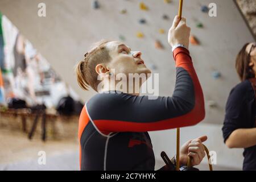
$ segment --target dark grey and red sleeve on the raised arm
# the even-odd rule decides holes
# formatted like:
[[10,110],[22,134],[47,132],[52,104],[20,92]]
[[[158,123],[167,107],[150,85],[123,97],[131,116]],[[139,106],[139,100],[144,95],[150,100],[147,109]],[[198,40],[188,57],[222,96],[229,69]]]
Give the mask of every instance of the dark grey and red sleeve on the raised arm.
[[176,84],[172,97],[149,100],[130,94],[97,94],[86,103],[86,112],[98,130],[156,131],[196,125],[205,117],[204,96],[189,51],[176,48]]

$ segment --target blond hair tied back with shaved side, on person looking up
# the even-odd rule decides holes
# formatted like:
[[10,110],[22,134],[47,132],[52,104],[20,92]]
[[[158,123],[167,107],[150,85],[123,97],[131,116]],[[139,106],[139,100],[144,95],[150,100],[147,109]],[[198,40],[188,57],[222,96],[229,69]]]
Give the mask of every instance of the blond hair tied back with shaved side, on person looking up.
[[98,73],[95,68],[97,64],[110,61],[109,51],[106,49],[106,43],[108,42],[110,40],[101,40],[95,43],[95,46],[89,52],[85,53],[84,60],[81,60],[76,65],[77,82],[82,89],[88,90],[90,86],[98,92],[97,86],[100,80],[97,80]]

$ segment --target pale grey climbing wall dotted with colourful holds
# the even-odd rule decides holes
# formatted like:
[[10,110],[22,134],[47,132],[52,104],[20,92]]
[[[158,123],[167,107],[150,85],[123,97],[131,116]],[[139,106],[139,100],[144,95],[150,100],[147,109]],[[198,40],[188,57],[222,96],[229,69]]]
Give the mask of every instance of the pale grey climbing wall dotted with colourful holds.
[[[1,0],[0,11],[82,100],[95,92],[84,92],[77,86],[73,67],[93,42],[104,38],[121,40],[134,51],[142,51],[146,65],[159,73],[160,96],[172,94],[175,66],[167,32],[179,1],[45,0],[46,17],[38,16],[40,2]],[[211,2],[217,5],[217,17],[210,17],[204,7]],[[189,50],[203,86],[204,122],[222,123],[229,92],[239,82],[234,69],[236,55],[243,44],[254,42],[253,36],[233,0],[185,0],[183,16],[195,36]]]

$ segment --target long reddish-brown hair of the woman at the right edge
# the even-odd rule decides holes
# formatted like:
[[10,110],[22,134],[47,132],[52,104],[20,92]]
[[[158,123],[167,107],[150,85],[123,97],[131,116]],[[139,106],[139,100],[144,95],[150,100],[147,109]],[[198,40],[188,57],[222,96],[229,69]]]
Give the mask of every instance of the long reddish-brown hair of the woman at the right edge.
[[246,47],[248,45],[249,43],[246,43],[245,46],[243,46],[241,51],[238,53],[236,60],[236,69],[241,81],[255,77],[253,68],[249,66],[250,55],[246,52]]

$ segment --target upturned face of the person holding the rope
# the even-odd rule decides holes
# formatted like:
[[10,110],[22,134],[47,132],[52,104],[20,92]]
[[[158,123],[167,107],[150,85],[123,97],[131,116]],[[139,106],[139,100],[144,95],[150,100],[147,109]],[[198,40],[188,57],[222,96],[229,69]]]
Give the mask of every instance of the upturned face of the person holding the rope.
[[124,73],[127,78],[129,73],[151,73],[141,59],[142,53],[139,51],[131,51],[129,47],[121,42],[109,42],[106,44],[109,50],[111,61],[108,63],[110,69],[114,69],[114,74]]

